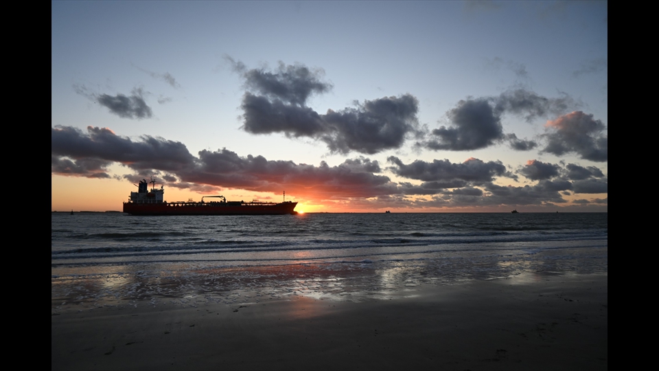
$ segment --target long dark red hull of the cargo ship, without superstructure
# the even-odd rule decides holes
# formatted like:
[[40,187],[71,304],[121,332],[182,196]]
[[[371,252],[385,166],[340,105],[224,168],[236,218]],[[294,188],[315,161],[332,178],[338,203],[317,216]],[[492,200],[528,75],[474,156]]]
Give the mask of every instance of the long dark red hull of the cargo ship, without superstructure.
[[297,214],[297,202],[263,205],[212,205],[211,203],[124,203],[124,212],[131,215],[284,215]]

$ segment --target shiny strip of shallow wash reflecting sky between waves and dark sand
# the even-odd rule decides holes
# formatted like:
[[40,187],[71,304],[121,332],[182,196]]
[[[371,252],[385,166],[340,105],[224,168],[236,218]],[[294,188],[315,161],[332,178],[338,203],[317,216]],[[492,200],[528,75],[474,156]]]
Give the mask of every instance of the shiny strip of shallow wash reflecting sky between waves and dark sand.
[[543,259],[534,256],[532,260],[524,256],[481,256],[200,269],[194,263],[176,262],[150,265],[148,269],[115,266],[105,274],[95,274],[93,267],[87,267],[86,271],[72,269],[68,276],[51,278],[51,297],[54,311],[64,309],[62,302],[79,303],[86,308],[134,305],[139,300],[176,306],[235,306],[291,297],[359,302],[414,295],[421,284],[527,277],[554,271],[606,271],[605,261],[593,259],[588,265],[579,260],[577,269],[571,266],[576,264],[575,259],[562,259],[557,251],[548,251],[546,255]]

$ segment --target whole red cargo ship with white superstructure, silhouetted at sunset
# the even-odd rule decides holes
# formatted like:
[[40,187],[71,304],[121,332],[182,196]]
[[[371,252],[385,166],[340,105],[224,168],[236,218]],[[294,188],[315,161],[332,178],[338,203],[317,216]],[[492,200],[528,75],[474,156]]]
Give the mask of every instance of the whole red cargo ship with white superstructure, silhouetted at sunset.
[[[151,190],[148,183],[152,183]],[[167,202],[164,199],[165,190],[155,188],[156,181],[147,182],[143,179],[137,186],[137,192],[130,192],[128,202],[124,202],[124,212],[131,215],[284,215],[297,214],[294,211],[297,202],[260,202],[260,201],[227,201],[224,196],[203,196],[200,202],[188,201]],[[216,198],[221,201],[204,201],[205,198]]]

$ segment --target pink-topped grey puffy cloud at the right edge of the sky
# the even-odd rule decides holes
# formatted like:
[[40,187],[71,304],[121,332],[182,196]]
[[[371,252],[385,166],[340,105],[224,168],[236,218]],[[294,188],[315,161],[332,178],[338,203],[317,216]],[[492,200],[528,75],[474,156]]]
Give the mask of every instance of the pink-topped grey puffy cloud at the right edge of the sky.
[[606,126],[600,120],[594,120],[592,115],[574,111],[548,121],[545,127],[547,145],[543,152],[557,156],[577,153],[582,159],[607,161]]

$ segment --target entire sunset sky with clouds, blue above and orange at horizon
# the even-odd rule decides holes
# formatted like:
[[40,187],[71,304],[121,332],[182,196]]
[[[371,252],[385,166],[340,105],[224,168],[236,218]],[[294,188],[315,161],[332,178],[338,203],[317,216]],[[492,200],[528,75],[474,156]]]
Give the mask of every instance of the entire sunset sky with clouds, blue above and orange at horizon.
[[51,210],[606,212],[606,1],[52,1]]

